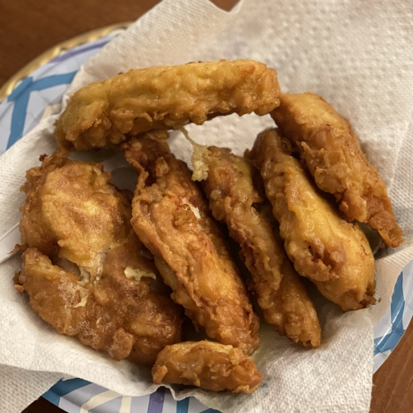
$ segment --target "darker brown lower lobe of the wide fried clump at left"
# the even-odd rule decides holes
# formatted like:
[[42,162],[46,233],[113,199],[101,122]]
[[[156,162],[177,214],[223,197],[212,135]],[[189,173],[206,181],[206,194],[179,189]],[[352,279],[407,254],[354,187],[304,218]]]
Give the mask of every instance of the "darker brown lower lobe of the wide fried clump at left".
[[148,275],[153,273],[140,271],[142,281],[125,277],[125,265],[134,261],[129,253],[136,248],[127,251],[121,245],[109,251],[103,275],[93,284],[79,282],[76,273],[28,248],[14,282],[28,293],[33,310],[59,333],[76,336],[112,359],[152,366],[160,350],[180,341],[181,321],[175,304],[150,290]]

